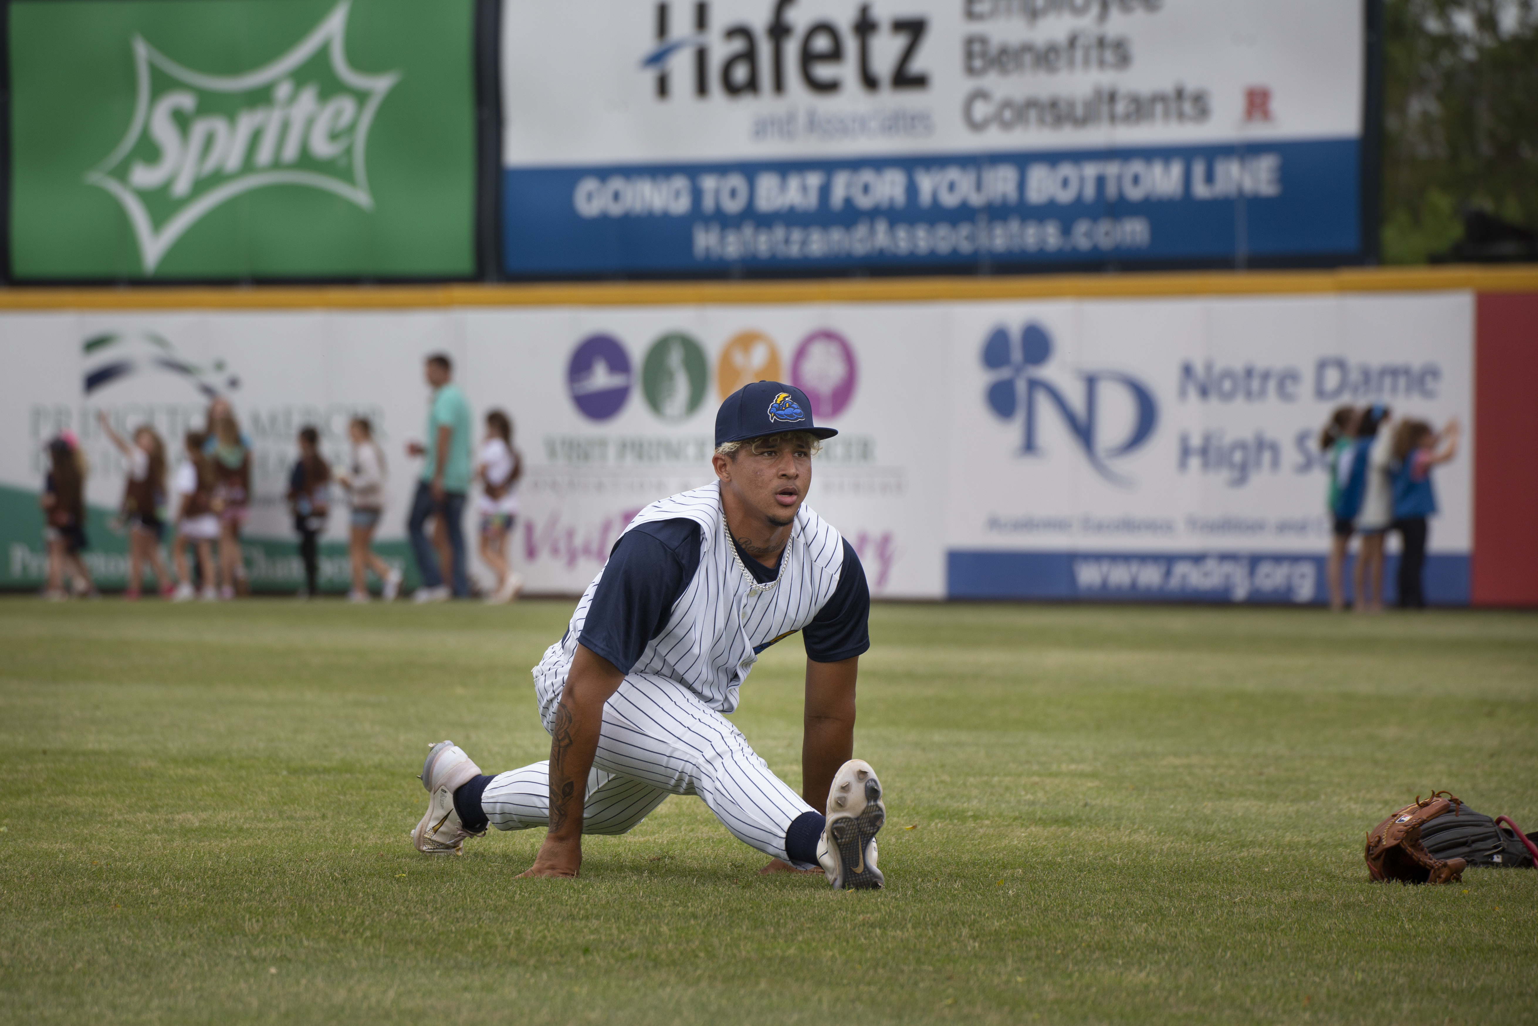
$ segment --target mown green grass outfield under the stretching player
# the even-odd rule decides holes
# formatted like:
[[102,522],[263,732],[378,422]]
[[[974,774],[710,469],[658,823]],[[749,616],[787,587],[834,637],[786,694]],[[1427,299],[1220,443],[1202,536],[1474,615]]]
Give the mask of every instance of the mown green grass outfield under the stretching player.
[[[1538,1020],[1538,872],[1361,860],[1432,788],[1538,829],[1538,615],[878,606],[886,891],[681,797],[577,881],[418,855],[428,741],[548,754],[569,609],[0,600],[0,1021]],[[734,717],[795,786],[801,666]]]

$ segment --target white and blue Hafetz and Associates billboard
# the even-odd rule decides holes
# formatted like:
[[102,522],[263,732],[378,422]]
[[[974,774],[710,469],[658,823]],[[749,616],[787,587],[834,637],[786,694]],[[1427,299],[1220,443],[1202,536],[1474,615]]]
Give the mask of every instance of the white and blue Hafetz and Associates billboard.
[[1349,258],[1361,0],[504,0],[514,275]]

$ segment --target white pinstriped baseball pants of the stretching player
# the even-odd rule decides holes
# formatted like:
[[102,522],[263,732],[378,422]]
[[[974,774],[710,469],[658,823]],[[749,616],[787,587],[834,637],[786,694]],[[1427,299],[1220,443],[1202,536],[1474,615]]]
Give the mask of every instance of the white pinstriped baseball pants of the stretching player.
[[[512,769],[486,786],[481,809],[492,826],[549,826],[549,766]],[[787,858],[791,823],[814,811],[694,692],[652,674],[626,677],[603,708],[583,834],[624,834],[671,794],[700,795],[738,840],[775,858]]]

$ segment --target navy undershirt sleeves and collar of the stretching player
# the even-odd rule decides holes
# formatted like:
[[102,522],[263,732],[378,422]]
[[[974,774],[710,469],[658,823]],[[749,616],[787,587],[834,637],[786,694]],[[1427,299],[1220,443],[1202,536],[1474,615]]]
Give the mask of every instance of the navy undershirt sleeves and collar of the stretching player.
[[[778,566],[764,566],[740,545],[737,555],[761,585],[780,574]],[[609,554],[578,641],[615,669],[631,672],[647,643],[667,626],[674,605],[698,568],[700,525],[694,520],[657,520],[628,531]],[[869,618],[864,566],[846,540],[838,588],[801,631],[806,657],[837,663],[864,654],[871,648]]]

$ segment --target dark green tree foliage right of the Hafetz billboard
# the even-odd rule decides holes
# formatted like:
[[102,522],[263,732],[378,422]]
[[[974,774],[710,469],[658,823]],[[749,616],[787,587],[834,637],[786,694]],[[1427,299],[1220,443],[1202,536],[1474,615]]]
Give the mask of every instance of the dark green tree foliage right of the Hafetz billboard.
[[1383,260],[1423,263],[1484,209],[1538,229],[1533,0],[1386,0]]

